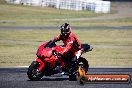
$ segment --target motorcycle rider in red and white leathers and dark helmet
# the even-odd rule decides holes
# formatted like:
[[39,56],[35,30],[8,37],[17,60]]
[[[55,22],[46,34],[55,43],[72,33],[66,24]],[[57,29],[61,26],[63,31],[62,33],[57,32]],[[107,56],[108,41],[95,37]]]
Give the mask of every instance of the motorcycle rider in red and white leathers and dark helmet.
[[[78,60],[78,58],[81,56],[81,43],[71,32],[71,26],[68,23],[64,23],[61,25],[60,28],[61,34],[54,37],[51,41],[57,42],[62,40],[65,46],[65,49],[61,52],[61,54],[65,56],[69,55],[69,51],[74,54],[74,58],[72,58],[72,61]],[[71,54],[71,53],[70,53]]]

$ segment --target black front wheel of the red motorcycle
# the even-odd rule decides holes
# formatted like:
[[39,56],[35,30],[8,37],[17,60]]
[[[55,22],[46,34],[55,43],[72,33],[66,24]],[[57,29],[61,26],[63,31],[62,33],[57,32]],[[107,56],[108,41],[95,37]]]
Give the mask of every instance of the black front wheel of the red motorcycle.
[[33,61],[32,64],[29,66],[27,75],[28,78],[32,81],[41,80],[43,77],[43,73],[38,70],[39,63],[37,61]]

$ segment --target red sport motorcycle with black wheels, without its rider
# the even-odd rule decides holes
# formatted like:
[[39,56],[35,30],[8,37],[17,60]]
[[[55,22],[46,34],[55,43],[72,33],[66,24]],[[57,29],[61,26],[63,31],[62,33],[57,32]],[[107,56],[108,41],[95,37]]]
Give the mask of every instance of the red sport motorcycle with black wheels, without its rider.
[[[36,53],[36,61],[33,61],[28,68],[27,75],[30,80],[41,80],[43,76],[51,76],[64,72],[69,76],[69,80],[76,80],[79,76],[79,68],[88,71],[88,61],[80,57],[76,62],[72,61],[75,57],[73,54],[63,57],[61,51],[64,45],[56,45],[51,41],[42,44]],[[92,48],[88,44],[82,44],[83,53],[91,51]],[[60,68],[61,67],[61,68]]]

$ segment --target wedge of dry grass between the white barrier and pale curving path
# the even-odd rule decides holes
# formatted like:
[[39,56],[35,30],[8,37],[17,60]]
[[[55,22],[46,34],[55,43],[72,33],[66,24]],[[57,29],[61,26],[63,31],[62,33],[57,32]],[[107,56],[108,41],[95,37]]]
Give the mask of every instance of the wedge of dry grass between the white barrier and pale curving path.
[[50,19],[89,18],[100,15],[103,14],[96,14],[92,11],[71,11],[48,7],[32,7],[9,4],[0,5],[0,20],[16,21],[14,25],[19,25],[18,23],[25,23],[23,25],[26,25],[26,23],[29,25],[42,25],[45,21]]

